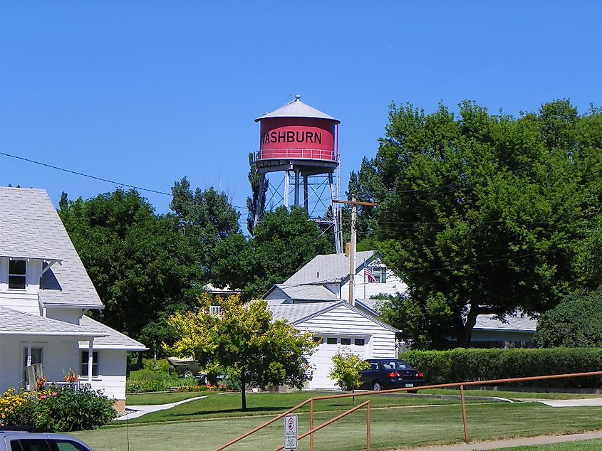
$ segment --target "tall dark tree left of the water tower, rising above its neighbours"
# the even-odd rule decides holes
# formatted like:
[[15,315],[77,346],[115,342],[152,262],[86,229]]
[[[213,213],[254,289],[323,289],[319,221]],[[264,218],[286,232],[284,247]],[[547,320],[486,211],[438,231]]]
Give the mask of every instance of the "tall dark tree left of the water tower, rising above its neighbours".
[[212,277],[212,267],[217,245],[231,235],[240,233],[240,214],[232,206],[226,193],[213,187],[192,191],[186,177],[175,182],[172,188],[170,208],[177,223],[197,255],[197,262],[204,277]]

